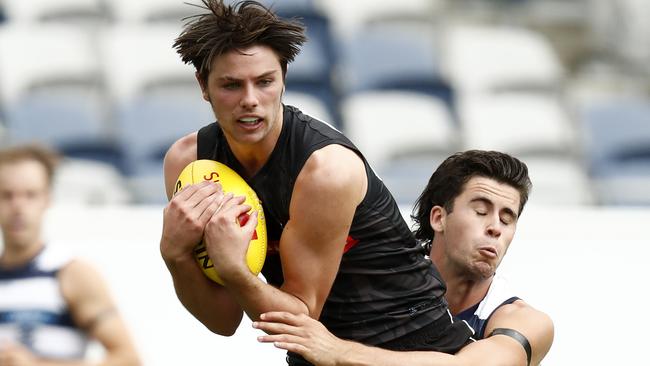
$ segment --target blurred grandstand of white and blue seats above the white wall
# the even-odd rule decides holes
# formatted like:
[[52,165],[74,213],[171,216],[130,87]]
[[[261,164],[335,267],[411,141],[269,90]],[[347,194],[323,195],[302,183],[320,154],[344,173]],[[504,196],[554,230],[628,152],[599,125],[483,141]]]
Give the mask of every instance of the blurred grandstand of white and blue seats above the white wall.
[[[526,161],[533,204],[650,204],[649,1],[263,3],[307,25],[285,102],[343,130],[400,204],[472,148]],[[171,48],[198,11],[0,0],[1,143],[64,152],[61,203],[165,202],[164,151],[213,119]]]

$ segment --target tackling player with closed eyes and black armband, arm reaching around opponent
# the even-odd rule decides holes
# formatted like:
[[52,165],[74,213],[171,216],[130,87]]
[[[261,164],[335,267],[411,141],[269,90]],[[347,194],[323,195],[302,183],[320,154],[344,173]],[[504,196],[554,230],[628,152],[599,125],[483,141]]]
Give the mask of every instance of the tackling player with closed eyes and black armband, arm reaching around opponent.
[[496,275],[531,187],[525,164],[507,154],[467,151],[433,173],[415,207],[416,237],[447,283],[451,312],[480,339],[456,355],[391,352],[334,337],[319,322],[274,312],[254,326],[317,365],[538,365],[553,343],[553,322]]

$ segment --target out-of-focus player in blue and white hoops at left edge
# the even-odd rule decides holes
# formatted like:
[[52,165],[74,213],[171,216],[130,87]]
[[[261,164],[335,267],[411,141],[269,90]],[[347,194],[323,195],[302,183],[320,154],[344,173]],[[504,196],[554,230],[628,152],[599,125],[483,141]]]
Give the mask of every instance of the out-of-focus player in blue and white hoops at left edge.
[[0,366],[86,365],[91,338],[99,364],[139,365],[99,274],[41,237],[56,160],[36,146],[0,151]]

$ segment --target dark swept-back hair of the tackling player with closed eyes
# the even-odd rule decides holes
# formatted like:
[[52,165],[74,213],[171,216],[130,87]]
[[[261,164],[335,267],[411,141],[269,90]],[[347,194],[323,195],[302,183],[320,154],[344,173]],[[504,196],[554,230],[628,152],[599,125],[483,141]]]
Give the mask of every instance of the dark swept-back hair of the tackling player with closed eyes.
[[433,172],[411,214],[411,219],[415,222],[415,237],[427,252],[431,250],[434,236],[429,223],[431,209],[441,206],[447,213],[451,213],[454,200],[463,191],[465,183],[477,176],[494,179],[515,188],[520,196],[519,214],[523,211],[532,188],[526,164],[498,151],[468,150],[455,153]]

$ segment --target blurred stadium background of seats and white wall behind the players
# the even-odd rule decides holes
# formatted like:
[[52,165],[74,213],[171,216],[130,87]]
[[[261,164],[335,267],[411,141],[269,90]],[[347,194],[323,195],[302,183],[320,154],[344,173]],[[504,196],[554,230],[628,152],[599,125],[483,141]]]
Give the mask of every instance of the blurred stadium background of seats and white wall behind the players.
[[[603,293],[634,292],[649,254],[650,1],[262,2],[307,25],[285,102],[345,132],[405,215],[455,151],[528,163],[532,207],[504,271],[556,320],[545,364],[612,364],[595,350],[629,351],[612,335],[641,337],[647,325],[589,337],[583,327],[612,312]],[[107,273],[147,365],[219,352],[250,358],[215,364],[281,364],[250,332],[232,347],[200,329],[157,251],[163,154],[214,119],[171,48],[199,11],[181,0],[0,0],[0,144],[37,141],[67,157],[48,233]]]

